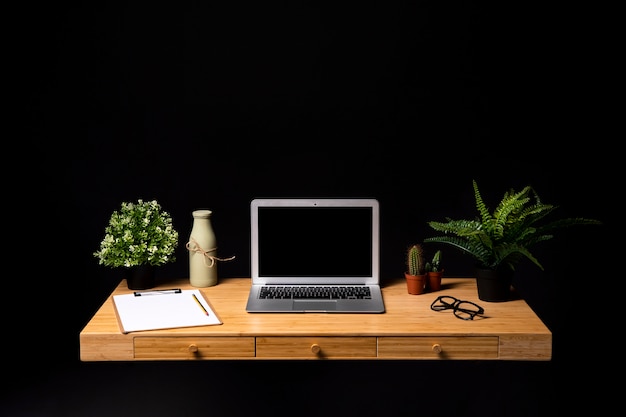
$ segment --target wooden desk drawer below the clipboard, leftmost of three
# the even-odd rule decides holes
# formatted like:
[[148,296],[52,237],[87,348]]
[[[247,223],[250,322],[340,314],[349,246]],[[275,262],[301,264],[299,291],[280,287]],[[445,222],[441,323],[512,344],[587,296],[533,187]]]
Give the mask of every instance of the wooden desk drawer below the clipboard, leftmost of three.
[[253,358],[254,337],[135,337],[136,359]]

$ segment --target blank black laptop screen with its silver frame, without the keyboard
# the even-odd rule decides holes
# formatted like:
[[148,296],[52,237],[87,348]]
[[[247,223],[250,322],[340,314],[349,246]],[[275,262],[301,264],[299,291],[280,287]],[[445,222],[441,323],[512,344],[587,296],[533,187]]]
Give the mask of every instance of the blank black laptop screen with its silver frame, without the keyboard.
[[372,199],[263,199],[252,204],[252,276],[277,283],[378,283]]

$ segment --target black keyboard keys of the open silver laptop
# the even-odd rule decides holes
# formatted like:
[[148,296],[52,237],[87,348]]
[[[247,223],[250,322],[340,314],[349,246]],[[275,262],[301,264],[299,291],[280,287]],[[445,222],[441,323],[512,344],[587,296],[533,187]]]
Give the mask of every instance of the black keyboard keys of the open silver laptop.
[[372,298],[367,286],[289,286],[268,285],[261,287],[259,298],[298,300],[340,300]]

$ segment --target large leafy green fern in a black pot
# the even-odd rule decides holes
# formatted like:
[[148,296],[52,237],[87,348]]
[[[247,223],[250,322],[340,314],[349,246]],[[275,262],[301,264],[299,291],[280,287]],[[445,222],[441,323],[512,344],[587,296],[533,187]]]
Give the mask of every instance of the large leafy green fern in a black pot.
[[475,180],[473,187],[478,217],[430,221],[428,225],[443,235],[426,238],[424,242],[450,245],[472,257],[478,297],[483,301],[510,299],[513,273],[522,259],[543,270],[530,251],[537,243],[552,239],[556,231],[566,227],[602,224],[582,217],[548,221],[547,216],[558,206],[544,203],[531,186],[505,192],[496,208],[489,211]]

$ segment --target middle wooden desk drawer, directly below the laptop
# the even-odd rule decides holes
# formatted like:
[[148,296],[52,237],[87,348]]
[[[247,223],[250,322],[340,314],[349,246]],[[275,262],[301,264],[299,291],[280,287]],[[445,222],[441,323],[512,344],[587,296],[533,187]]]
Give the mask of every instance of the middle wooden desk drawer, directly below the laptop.
[[257,337],[258,358],[375,358],[375,337]]

